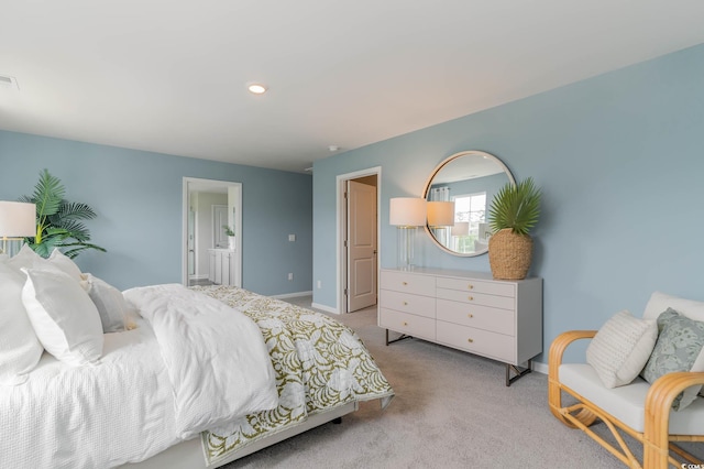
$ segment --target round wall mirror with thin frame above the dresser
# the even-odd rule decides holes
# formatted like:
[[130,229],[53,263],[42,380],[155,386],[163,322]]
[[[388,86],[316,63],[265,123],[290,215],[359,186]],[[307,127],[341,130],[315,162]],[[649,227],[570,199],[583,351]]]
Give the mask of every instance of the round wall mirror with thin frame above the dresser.
[[490,205],[506,183],[516,184],[508,167],[490,153],[470,150],[446,159],[430,173],[422,192],[430,239],[454,255],[487,252]]

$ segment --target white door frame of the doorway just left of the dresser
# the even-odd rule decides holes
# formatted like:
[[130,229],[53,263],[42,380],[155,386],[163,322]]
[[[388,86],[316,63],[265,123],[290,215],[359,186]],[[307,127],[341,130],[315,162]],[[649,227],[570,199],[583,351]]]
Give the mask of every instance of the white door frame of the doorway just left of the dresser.
[[346,234],[348,226],[348,212],[346,203],[344,200],[344,192],[346,189],[346,182],[350,179],[359,179],[364,176],[376,175],[376,296],[378,298],[378,272],[382,254],[382,237],[381,237],[381,215],[382,215],[382,166],[374,166],[366,170],[360,170],[352,173],[339,174],[336,177],[337,200],[336,200],[336,225],[337,225],[337,247],[336,259],[338,263],[337,268],[337,303],[339,314],[348,313],[348,302],[344,295],[344,288],[346,287],[346,270],[348,270],[348,255],[344,247],[344,238]]

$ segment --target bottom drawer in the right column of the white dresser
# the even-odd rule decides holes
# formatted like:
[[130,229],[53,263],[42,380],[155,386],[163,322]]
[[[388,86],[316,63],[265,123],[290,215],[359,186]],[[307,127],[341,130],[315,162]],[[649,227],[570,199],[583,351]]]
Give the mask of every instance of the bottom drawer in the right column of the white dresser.
[[439,320],[437,323],[437,341],[472,353],[493,358],[506,363],[515,362],[515,341],[513,336],[490,332],[473,327]]

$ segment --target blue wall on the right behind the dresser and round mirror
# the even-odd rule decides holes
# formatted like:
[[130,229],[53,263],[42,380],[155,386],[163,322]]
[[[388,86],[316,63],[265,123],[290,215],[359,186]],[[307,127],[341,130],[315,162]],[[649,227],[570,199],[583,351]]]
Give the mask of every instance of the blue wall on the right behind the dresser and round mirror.
[[[704,46],[700,45],[315,163],[314,281],[334,279],[336,176],[381,165],[381,265],[395,266],[388,199],[419,196],[463,150],[542,188],[532,275],[544,279],[544,350],[561,331],[640,316],[651,292],[704,301]],[[488,272],[420,231],[417,264]],[[333,282],[315,290],[337,308]],[[547,356],[539,357],[547,361]]]

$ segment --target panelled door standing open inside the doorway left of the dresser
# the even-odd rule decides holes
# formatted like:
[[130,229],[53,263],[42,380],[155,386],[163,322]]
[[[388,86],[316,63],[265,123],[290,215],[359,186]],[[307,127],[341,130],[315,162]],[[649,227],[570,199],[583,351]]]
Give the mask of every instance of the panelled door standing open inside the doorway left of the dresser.
[[376,187],[348,182],[348,313],[376,304]]

